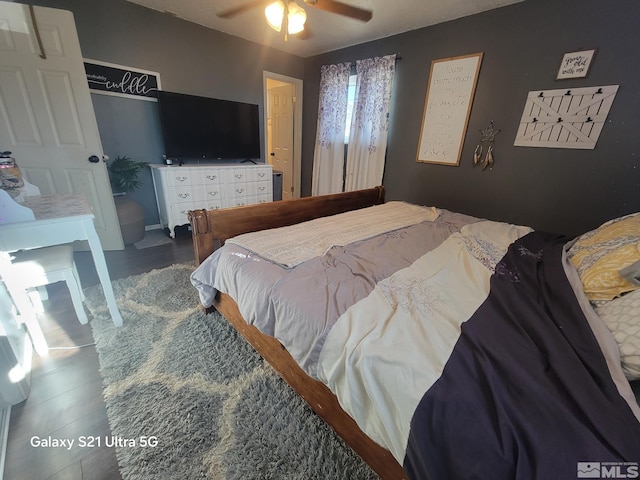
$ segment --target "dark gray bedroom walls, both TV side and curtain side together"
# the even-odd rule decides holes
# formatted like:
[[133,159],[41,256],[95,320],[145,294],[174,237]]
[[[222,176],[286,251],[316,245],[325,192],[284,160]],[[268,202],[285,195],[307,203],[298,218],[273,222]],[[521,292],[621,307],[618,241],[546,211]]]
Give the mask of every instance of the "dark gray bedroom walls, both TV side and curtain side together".
[[[165,90],[263,106],[262,71],[304,79],[302,195],[311,193],[320,66],[398,53],[384,185],[387,198],[575,235],[640,210],[637,0],[525,0],[433,27],[302,59],[125,0],[36,0],[74,13],[83,55],[160,73]],[[321,32],[316,34],[320,35]],[[585,79],[556,81],[565,52],[598,48]],[[484,58],[460,166],[416,163],[431,61]],[[530,90],[620,85],[594,150],[514,147]],[[105,153],[159,163],[155,103],[92,95]],[[472,167],[494,121],[495,167]],[[264,126],[262,126],[264,136]],[[263,153],[264,155],[264,153]],[[133,194],[158,222],[150,176]]]

